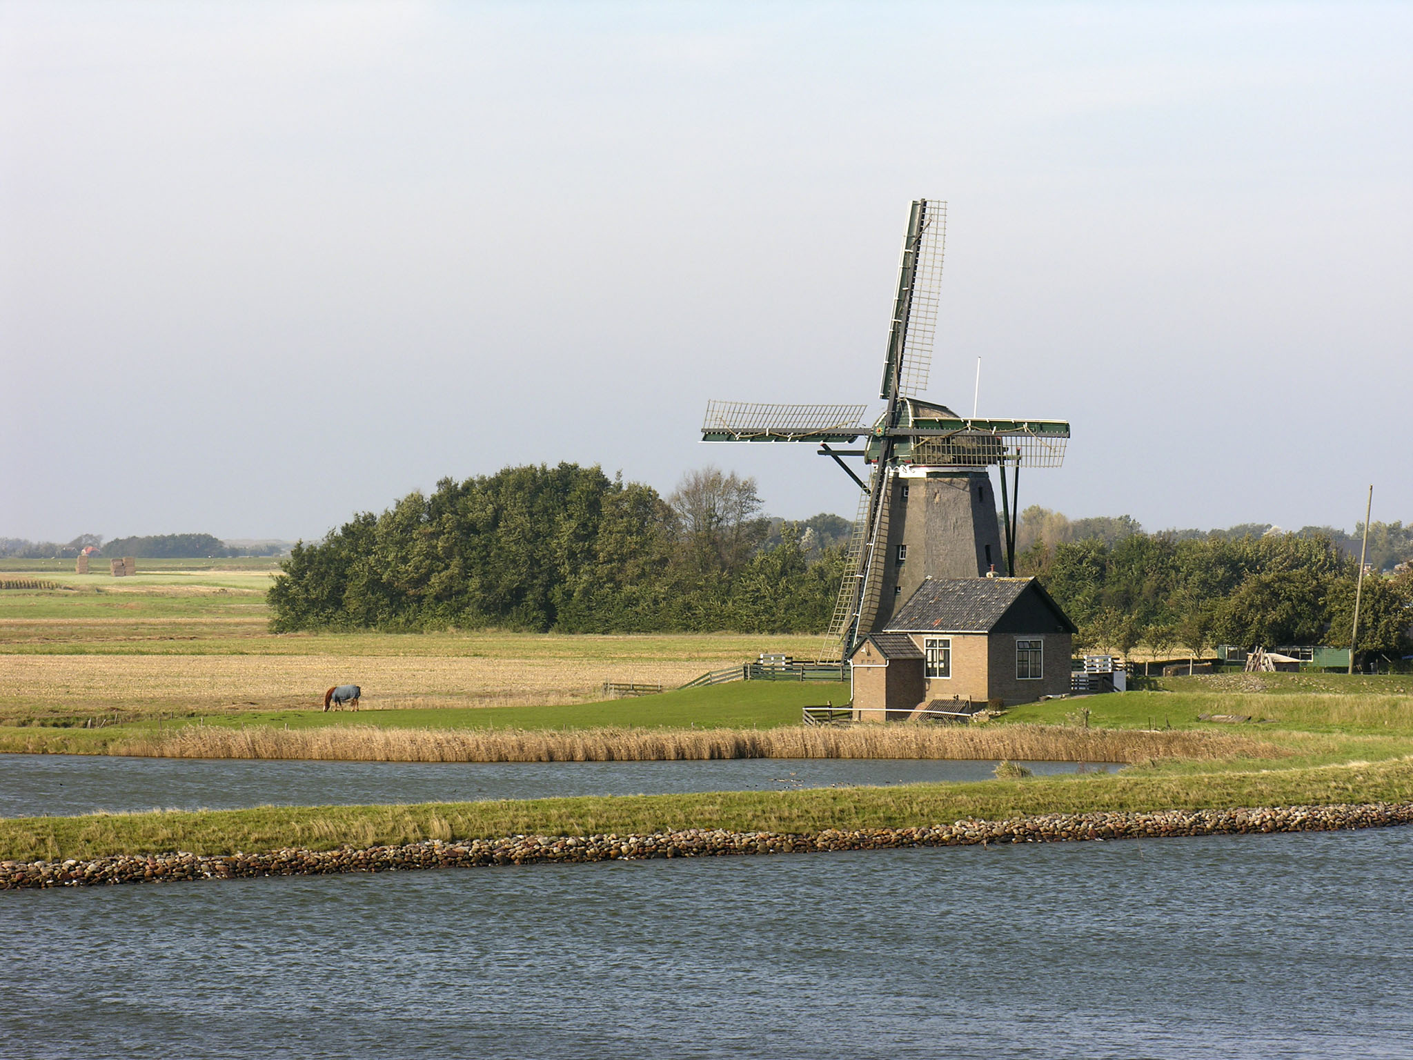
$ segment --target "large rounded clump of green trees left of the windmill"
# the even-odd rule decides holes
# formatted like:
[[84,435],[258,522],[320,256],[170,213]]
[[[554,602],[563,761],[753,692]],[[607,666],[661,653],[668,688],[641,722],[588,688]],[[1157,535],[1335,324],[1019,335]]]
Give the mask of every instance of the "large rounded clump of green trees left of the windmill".
[[270,591],[271,626],[824,630],[844,520],[760,509],[755,479],[716,468],[666,499],[575,464],[442,479],[297,544]]

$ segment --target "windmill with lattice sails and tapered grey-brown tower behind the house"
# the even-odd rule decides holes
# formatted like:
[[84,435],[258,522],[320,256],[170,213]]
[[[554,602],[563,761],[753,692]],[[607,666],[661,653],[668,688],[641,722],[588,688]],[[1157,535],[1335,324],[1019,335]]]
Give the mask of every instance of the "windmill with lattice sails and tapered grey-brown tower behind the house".
[[[976,578],[1002,563],[1016,570],[1020,468],[1057,468],[1070,424],[1063,420],[965,418],[923,401],[933,359],[947,242],[947,204],[918,199],[907,219],[897,295],[879,397],[865,404],[709,401],[702,441],[793,441],[818,445],[862,490],[845,554],[844,582],[821,660],[848,657],[859,637],[882,629],[926,578]],[[862,448],[834,448],[855,445]],[[862,457],[868,482],[844,462]],[[991,468],[1000,472],[1002,519]],[[1007,489],[1006,472],[1012,482]]]

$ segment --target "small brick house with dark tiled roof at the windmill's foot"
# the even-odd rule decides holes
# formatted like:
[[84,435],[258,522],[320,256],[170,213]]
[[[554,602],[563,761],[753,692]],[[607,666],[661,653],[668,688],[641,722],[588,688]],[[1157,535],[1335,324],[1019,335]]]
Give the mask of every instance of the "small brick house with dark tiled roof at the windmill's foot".
[[[1070,691],[1074,623],[1034,578],[928,579],[849,656],[859,721]],[[968,708],[969,704],[969,708]]]

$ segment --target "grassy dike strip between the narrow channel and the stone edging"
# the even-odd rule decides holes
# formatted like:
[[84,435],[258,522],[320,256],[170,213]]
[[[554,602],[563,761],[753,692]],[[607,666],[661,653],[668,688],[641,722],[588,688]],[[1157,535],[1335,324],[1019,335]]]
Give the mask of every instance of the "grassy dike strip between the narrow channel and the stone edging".
[[167,851],[259,854],[290,847],[326,851],[422,840],[651,834],[690,828],[804,834],[1053,813],[1407,801],[1413,801],[1413,758],[1177,776],[1096,775],[804,791],[8,818],[0,820],[0,861],[90,859]]

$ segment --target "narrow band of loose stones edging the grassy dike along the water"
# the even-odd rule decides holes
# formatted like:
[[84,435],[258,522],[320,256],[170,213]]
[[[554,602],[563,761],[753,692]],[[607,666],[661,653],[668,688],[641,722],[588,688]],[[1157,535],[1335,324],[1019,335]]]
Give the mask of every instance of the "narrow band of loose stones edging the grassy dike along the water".
[[650,835],[507,835],[499,840],[425,840],[397,847],[264,854],[119,854],[92,861],[4,861],[0,890],[147,883],[246,876],[317,876],[335,872],[543,865],[644,858],[714,858],[746,854],[968,847],[988,842],[1159,840],[1173,835],[1311,832],[1413,824],[1413,803],[1280,806],[1253,810],[1043,814],[1006,821],[955,821],[917,828],[753,832],[691,828]]

